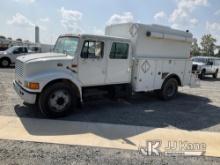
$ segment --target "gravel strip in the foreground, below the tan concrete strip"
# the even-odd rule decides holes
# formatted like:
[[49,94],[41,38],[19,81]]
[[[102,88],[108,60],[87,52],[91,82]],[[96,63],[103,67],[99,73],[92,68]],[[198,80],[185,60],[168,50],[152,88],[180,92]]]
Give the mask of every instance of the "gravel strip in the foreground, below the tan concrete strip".
[[145,157],[139,152],[128,150],[1,140],[0,164],[219,165],[220,159],[209,157]]

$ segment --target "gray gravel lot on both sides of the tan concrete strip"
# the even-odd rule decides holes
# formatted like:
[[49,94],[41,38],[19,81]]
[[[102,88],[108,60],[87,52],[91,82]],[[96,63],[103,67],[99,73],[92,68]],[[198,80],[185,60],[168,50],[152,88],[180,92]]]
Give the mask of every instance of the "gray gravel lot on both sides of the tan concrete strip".
[[[0,116],[44,118],[36,108],[23,105],[12,88],[14,69],[0,69]],[[154,94],[129,100],[87,102],[77,113],[59,120],[173,128],[220,133],[220,79],[206,78],[201,88],[180,88],[175,100],[164,102]],[[216,144],[220,148],[220,144]],[[36,161],[35,161],[36,160]],[[2,162],[2,163],[1,163]],[[143,157],[133,151],[0,141],[0,164],[220,164],[207,157]],[[61,163],[62,162],[62,163]]]

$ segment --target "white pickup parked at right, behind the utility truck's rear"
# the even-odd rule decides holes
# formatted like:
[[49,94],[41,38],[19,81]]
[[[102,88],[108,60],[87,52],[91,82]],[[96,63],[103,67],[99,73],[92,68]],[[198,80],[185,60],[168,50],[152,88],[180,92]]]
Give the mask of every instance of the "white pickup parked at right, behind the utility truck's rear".
[[220,58],[198,56],[193,57],[193,70],[198,72],[202,79],[206,75],[212,75],[213,78],[218,77],[220,71]]

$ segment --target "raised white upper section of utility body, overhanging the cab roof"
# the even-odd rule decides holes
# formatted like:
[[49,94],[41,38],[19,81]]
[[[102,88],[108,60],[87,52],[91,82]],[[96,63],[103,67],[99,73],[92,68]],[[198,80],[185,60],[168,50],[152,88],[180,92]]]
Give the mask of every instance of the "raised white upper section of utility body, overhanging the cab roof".
[[116,24],[105,34],[128,38],[134,57],[189,59],[192,34],[160,25]]

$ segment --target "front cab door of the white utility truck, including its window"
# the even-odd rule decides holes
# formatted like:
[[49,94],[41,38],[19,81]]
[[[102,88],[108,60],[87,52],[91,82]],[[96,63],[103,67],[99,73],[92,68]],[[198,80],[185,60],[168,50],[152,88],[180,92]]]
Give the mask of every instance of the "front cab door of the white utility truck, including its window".
[[83,86],[103,85],[105,81],[105,43],[101,40],[83,41],[79,57],[79,79]]

